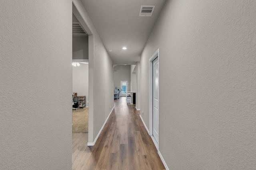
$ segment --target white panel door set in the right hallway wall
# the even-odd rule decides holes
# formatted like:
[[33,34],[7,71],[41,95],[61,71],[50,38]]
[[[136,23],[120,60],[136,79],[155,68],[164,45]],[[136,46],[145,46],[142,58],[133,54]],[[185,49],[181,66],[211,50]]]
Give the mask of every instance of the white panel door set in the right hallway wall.
[[159,138],[159,63],[158,63],[158,57],[153,61],[153,137],[156,139],[156,142],[158,143]]

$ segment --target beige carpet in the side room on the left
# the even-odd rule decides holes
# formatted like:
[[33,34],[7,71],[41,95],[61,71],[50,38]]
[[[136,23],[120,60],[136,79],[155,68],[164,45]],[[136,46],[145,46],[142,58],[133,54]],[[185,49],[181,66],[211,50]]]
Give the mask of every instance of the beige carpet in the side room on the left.
[[72,133],[88,133],[88,107],[73,110]]

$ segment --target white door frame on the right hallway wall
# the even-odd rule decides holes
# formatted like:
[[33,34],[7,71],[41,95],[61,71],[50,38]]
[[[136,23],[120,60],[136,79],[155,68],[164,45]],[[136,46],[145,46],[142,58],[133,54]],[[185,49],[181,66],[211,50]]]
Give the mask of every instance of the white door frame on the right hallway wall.
[[[149,135],[152,138],[154,145],[156,146],[157,151],[159,151],[159,133],[158,132],[158,143],[153,137],[153,61],[158,57],[158,65],[160,64],[159,62],[159,49],[156,50],[156,52],[152,55],[152,57],[149,59],[149,92],[148,92],[148,97],[149,97]],[[160,65],[159,65],[160,66]],[[159,67],[160,68],[160,67]],[[158,70],[159,71],[159,70]],[[159,72],[158,72],[158,82],[159,82]],[[158,92],[159,92],[159,84],[158,84]],[[158,104],[159,102],[159,93],[158,93]],[[159,110],[158,110],[159,113]],[[159,123],[160,124],[160,123]],[[159,128],[158,128],[159,129]]]

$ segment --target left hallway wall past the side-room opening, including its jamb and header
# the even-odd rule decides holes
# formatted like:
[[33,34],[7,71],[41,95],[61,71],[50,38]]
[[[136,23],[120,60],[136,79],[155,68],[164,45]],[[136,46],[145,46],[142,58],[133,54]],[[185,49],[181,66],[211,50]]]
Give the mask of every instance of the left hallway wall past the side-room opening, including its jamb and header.
[[80,0],[73,0],[73,13],[89,34],[89,125],[88,143],[94,143],[114,107],[114,69],[92,21]]

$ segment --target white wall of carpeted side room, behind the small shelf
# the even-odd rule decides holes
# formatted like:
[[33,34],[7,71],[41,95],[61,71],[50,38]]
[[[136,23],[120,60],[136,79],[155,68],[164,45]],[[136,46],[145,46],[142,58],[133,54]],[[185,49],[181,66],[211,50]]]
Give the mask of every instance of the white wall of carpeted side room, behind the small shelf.
[[72,92],[77,93],[78,96],[86,96],[89,100],[89,70],[88,64],[80,63],[80,66],[72,67]]

